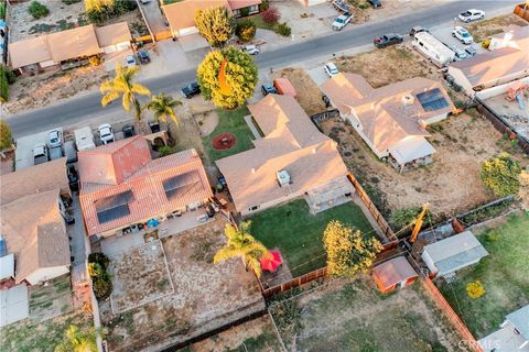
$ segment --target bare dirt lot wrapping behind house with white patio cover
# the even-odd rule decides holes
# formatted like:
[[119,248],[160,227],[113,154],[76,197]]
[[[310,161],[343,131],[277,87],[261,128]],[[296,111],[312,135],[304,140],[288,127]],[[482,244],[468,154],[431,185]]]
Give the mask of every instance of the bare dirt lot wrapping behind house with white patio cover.
[[479,180],[483,161],[508,151],[528,164],[519,150],[512,150],[510,142],[477,113],[451,117],[432,128],[429,141],[436,150],[433,163],[404,174],[379,161],[342,120],[323,121],[321,127],[338,142],[348,168],[386,216],[425,201],[438,218],[463,212],[494,199]]

